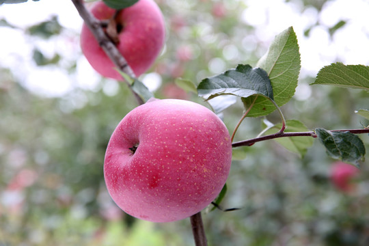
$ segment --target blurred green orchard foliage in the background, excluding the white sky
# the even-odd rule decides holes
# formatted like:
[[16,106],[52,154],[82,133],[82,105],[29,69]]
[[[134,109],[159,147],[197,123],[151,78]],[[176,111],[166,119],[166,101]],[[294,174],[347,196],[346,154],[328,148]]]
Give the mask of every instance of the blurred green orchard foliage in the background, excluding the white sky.
[[[239,63],[254,66],[267,51],[269,44],[255,38],[257,30],[239,21],[247,8],[241,1],[156,2],[168,30],[165,51],[150,71],[161,74],[159,98],[205,104],[179,90],[176,78],[198,83]],[[324,1],[304,3],[320,10]],[[38,33],[33,38],[42,40],[64,35],[57,18],[45,21],[29,27],[27,35]],[[31,49],[36,64],[68,68],[73,78],[74,66],[38,48]],[[305,77],[299,83],[312,81]],[[138,221],[107,193],[102,174],[107,142],[137,106],[126,85],[101,79],[94,90],[76,86],[61,98],[38,96],[22,85],[12,70],[0,68],[0,245],[193,245],[189,220]],[[354,113],[368,107],[367,92],[323,85],[310,90],[307,100],[292,98],[282,107],[287,120],[310,129],[369,124]],[[242,114],[241,101],[223,112],[230,132]],[[263,119],[245,120],[234,140],[255,137]],[[279,115],[267,120],[277,124]],[[368,135],[359,137],[368,148]],[[369,245],[368,161],[355,190],[342,193],[329,180],[333,160],[317,141],[303,159],[275,141],[236,152],[221,207],[241,210],[204,210],[209,245]]]

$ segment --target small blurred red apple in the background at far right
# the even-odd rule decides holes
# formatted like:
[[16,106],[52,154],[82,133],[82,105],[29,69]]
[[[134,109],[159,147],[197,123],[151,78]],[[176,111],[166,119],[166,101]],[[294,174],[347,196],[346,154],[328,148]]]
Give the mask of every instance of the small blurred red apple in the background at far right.
[[331,167],[331,180],[338,190],[349,193],[355,189],[353,178],[359,174],[359,169],[351,164],[336,161]]

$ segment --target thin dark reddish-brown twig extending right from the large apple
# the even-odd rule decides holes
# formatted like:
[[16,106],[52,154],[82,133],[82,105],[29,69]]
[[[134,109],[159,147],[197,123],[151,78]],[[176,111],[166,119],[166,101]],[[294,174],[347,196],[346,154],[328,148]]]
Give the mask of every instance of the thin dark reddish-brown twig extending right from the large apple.
[[[362,133],[369,133],[369,128],[364,129],[348,129],[348,130],[331,130],[331,132],[349,132],[353,134],[362,134]],[[240,147],[240,146],[252,146],[254,143],[258,141],[265,141],[269,139],[275,139],[279,137],[317,137],[314,131],[310,132],[297,132],[297,133],[284,133],[278,132],[271,135],[265,135],[262,137],[256,137],[254,139],[248,139],[244,141],[238,141],[236,143],[232,143],[232,147]]]

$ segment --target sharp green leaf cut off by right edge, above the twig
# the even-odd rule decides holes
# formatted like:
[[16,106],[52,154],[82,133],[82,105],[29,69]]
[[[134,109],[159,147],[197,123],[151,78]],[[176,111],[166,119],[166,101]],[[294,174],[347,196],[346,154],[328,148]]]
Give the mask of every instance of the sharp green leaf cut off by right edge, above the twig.
[[340,62],[320,69],[310,85],[336,85],[369,90],[369,66],[344,65]]

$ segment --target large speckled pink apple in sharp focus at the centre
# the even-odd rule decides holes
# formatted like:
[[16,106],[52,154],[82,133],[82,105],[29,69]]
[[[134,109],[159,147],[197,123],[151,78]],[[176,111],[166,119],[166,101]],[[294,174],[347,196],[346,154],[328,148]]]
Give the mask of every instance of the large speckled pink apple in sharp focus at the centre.
[[231,159],[230,135],[213,111],[187,100],[154,100],[115,128],[104,176],[124,212],[147,221],[177,221],[217,197]]

